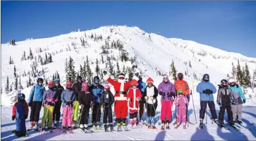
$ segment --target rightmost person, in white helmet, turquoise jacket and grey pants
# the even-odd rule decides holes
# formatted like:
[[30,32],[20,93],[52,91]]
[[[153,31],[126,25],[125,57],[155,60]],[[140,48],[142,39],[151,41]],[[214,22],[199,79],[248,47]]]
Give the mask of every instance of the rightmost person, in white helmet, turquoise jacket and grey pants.
[[234,78],[230,78],[228,84],[230,85],[229,88],[233,91],[234,100],[237,103],[237,105],[231,105],[234,123],[242,124],[242,104],[246,103],[246,97]]

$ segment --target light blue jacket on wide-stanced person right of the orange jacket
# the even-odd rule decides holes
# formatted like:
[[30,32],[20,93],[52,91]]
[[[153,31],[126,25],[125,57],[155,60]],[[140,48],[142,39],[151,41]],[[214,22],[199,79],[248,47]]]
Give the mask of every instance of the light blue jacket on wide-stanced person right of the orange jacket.
[[[206,89],[210,89],[213,91],[212,94],[205,94],[202,93],[202,91],[206,90]],[[196,91],[198,93],[200,93],[200,101],[214,101],[214,95],[216,93],[216,88],[214,85],[212,85],[212,83],[210,83],[210,80],[208,82],[205,82],[204,80],[202,80],[202,82],[200,82],[198,84],[198,86],[196,86]]]

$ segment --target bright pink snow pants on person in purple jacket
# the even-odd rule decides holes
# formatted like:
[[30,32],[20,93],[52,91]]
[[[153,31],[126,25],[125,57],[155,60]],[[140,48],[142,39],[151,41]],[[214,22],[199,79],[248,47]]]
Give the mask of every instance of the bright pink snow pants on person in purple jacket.
[[166,119],[170,121],[172,116],[172,102],[173,101],[162,101],[161,121],[166,121]]

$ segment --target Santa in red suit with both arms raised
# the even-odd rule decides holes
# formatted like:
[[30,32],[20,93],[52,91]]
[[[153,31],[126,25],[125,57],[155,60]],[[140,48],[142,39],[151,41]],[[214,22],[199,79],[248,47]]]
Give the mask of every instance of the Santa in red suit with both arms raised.
[[[116,122],[118,123],[118,128],[126,126],[126,116],[127,116],[127,91],[130,88],[131,82],[125,82],[125,75],[119,74],[118,81],[110,78],[110,75],[107,72],[103,71],[103,79],[108,81],[111,85],[114,86],[114,114],[116,115]],[[135,80],[138,80],[138,77],[134,76]]]

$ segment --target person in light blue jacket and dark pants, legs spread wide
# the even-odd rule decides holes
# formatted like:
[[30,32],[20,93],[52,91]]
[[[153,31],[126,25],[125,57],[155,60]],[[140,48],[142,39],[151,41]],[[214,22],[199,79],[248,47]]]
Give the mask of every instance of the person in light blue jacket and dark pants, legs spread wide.
[[209,74],[204,74],[202,77],[202,81],[196,86],[196,91],[200,93],[200,124],[199,128],[202,128],[202,121],[204,120],[204,115],[206,113],[207,104],[210,108],[210,114],[212,115],[212,119],[215,123],[218,124],[217,113],[215,110],[214,104],[214,95],[216,93],[215,86],[210,83]]

